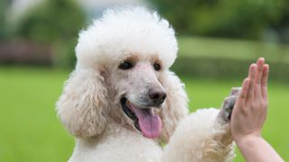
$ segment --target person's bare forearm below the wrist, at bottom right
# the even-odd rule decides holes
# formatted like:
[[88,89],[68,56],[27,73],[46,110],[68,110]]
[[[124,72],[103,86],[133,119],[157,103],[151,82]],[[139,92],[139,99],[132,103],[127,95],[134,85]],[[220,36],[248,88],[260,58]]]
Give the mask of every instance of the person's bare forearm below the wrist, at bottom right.
[[265,139],[257,136],[248,136],[236,141],[238,148],[247,162],[283,162],[275,149]]

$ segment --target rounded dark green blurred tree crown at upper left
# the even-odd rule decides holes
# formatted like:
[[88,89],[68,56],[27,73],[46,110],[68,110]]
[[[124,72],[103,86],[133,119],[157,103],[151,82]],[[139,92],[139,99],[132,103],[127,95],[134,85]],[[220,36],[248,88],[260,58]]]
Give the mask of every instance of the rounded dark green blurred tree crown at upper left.
[[75,38],[85,24],[85,14],[73,0],[46,0],[29,10],[17,25],[16,35],[53,42]]

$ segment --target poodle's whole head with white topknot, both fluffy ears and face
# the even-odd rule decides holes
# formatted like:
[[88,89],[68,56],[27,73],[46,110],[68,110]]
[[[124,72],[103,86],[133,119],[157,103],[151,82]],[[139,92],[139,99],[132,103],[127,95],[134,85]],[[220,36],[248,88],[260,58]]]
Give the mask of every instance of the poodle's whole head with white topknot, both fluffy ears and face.
[[187,113],[187,95],[170,72],[177,41],[169,23],[142,7],[105,12],[79,34],[77,66],[57,103],[77,137],[105,130],[111,117],[147,138],[167,141]]

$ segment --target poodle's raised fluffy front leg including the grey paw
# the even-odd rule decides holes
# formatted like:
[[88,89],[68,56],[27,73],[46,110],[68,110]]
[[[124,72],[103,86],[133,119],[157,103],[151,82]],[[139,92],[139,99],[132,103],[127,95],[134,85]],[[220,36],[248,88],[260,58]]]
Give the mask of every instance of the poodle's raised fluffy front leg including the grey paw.
[[238,90],[233,89],[221,109],[202,109],[183,119],[164,148],[163,161],[232,161],[234,146],[229,118]]

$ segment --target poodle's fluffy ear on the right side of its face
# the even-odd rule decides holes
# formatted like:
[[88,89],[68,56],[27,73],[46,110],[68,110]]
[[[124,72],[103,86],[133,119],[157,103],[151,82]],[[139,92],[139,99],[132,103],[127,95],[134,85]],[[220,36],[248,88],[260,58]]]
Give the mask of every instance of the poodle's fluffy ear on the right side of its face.
[[188,96],[180,78],[171,71],[165,72],[164,76],[161,77],[161,82],[167,98],[160,115],[163,121],[160,139],[167,143],[178,122],[188,115]]

